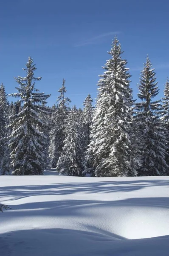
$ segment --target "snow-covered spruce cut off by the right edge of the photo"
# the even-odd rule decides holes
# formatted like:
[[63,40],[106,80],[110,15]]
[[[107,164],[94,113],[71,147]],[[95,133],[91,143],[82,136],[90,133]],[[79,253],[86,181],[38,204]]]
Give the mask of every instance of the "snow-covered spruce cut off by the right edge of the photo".
[[[166,129],[167,155],[166,163],[169,165],[169,79],[167,79],[164,87],[164,97],[162,98],[161,124]],[[169,169],[168,173],[169,175]]]

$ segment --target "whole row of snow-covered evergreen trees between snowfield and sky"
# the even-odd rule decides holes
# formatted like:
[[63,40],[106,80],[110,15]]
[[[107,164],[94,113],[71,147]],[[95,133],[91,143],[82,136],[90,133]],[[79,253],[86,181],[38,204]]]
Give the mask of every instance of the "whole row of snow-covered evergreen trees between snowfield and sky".
[[[42,175],[47,166],[62,175],[93,177],[169,175],[169,80],[157,100],[156,73],[146,58],[132,96],[129,68],[115,37],[98,82],[96,105],[90,94],[83,108],[70,108],[65,79],[56,105],[35,87],[31,57],[25,77],[17,76],[17,100],[8,102],[0,86],[0,174]],[[154,99],[155,98],[155,99]]]

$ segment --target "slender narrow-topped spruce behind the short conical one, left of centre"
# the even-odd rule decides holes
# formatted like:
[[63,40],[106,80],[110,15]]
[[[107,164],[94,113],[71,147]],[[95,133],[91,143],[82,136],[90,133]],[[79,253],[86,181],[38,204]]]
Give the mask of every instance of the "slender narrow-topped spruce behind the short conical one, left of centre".
[[53,122],[54,127],[51,131],[51,144],[53,144],[54,153],[52,159],[52,167],[56,168],[59,157],[62,154],[63,141],[65,140],[65,122],[70,111],[69,103],[71,100],[65,97],[66,87],[65,79],[63,79],[62,87],[58,90],[60,95],[57,97],[58,104],[54,108]]

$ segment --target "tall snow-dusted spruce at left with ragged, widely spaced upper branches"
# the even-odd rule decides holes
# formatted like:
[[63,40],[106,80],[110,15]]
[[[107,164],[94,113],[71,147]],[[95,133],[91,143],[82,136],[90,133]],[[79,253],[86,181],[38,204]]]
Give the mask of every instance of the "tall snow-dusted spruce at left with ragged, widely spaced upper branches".
[[39,93],[39,90],[35,88],[35,81],[39,81],[41,77],[34,77],[34,71],[37,68],[31,57],[28,58],[25,66],[23,70],[26,76],[15,78],[20,85],[16,87],[18,92],[10,95],[19,97],[23,107],[18,114],[10,116],[13,129],[10,136],[12,174],[42,175],[46,136],[40,131],[40,127],[45,125],[46,120],[40,119],[40,114],[48,114],[45,104],[50,95]]

